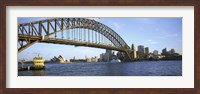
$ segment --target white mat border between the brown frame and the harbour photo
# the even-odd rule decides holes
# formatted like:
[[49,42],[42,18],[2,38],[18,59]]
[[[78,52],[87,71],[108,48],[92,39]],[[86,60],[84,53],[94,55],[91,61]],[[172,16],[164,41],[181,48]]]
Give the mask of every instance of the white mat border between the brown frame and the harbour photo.
[[[194,88],[193,6],[7,6],[6,17],[7,88]],[[183,76],[17,77],[17,17],[183,17]]]

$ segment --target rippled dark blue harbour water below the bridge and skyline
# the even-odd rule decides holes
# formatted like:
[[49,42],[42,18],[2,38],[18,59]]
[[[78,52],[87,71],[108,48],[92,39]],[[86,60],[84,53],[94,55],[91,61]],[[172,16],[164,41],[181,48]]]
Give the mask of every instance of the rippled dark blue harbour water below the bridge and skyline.
[[45,64],[46,70],[18,71],[18,76],[182,76],[182,61]]

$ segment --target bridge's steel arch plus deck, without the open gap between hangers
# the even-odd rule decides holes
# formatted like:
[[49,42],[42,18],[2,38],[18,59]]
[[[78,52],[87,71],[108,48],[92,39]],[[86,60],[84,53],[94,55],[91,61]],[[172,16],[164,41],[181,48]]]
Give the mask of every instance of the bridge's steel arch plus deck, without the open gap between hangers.
[[127,53],[130,54],[130,47],[113,29],[100,22],[86,18],[53,18],[18,24],[18,43],[20,45],[18,52],[21,52],[25,48],[37,42],[73,44],[74,41],[61,42],[63,40],[50,38],[49,36],[64,30],[76,28],[93,30],[106,37],[114,45],[108,46],[94,43],[84,44],[82,42],[75,43],[74,45],[105,48],[124,52],[128,51]]

